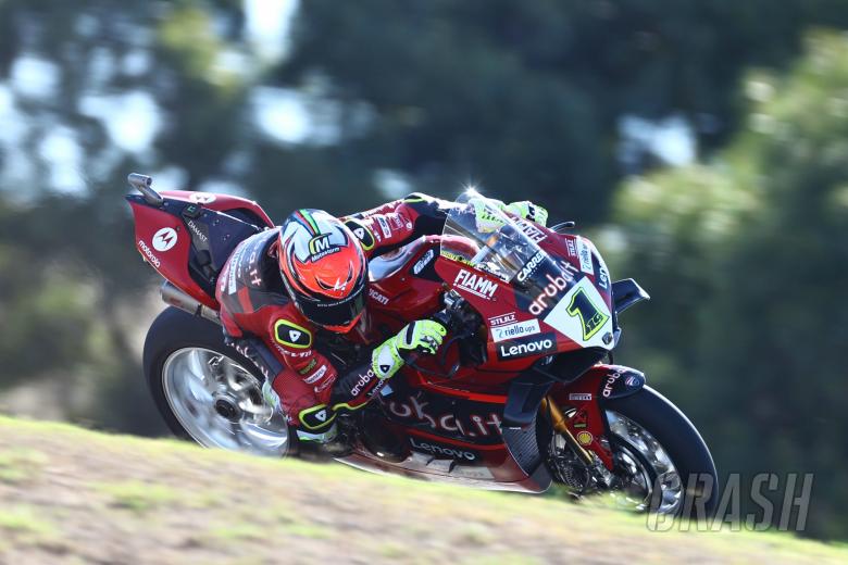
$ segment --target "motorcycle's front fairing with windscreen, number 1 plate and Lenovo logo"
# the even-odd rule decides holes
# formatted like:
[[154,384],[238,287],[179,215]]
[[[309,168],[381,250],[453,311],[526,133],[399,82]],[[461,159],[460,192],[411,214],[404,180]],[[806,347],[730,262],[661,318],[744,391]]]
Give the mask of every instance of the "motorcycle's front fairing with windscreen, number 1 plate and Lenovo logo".
[[483,315],[489,362],[612,349],[609,272],[595,247],[472,199],[496,221],[481,226],[473,200],[452,209],[437,268]]

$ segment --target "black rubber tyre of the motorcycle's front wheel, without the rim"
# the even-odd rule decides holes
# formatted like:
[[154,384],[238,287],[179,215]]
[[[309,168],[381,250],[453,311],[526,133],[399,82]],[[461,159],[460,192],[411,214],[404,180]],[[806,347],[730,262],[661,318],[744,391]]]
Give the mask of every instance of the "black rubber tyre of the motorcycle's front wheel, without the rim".
[[[648,461],[654,457],[646,457],[634,447],[639,441],[633,441],[628,436],[638,434],[638,428],[641,428],[668,454],[682,481],[681,503],[673,514],[693,518],[711,517],[714,514],[719,502],[715,464],[703,438],[683,412],[650,387],[629,397],[606,401],[604,410],[611,425],[613,451],[624,451],[628,457],[646,466],[650,480],[656,481],[658,478],[656,472],[651,473],[656,463]],[[657,506],[662,501],[659,492],[654,494],[649,510],[656,512],[660,510]]]

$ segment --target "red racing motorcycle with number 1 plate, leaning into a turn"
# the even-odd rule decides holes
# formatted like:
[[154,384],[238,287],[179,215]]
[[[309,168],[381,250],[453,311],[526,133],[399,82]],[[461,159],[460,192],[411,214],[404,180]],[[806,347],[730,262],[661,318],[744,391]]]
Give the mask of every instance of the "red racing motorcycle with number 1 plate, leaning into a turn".
[[[261,394],[265,376],[225,342],[217,275],[236,246],[274,224],[242,198],[152,188],[128,177],[136,247],[170,306],[150,327],[144,371],[172,431],[209,448],[296,455],[297,432]],[[481,229],[472,204],[498,219]],[[471,487],[575,498],[609,494],[643,512],[707,515],[719,498],[703,439],[645,375],[612,364],[619,316],[648,294],[612,281],[573,223],[551,228],[464,194],[440,236],[370,262],[366,319],[383,339],[412,319],[449,328],[437,355],[410,359],[345,418],[337,461]],[[361,344],[319,335],[340,372]],[[356,340],[353,340],[356,341]],[[604,363],[609,361],[609,363]],[[340,418],[341,419],[341,418]]]

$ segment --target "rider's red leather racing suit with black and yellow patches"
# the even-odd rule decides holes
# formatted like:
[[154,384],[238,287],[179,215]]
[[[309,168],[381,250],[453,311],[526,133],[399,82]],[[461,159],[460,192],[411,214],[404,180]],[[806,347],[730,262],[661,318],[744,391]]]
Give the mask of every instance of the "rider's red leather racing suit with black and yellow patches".
[[[341,221],[371,259],[421,236],[440,234],[451,205],[415,193]],[[367,343],[367,336],[357,328],[345,335],[365,351],[358,366],[339,374],[322,350],[327,331],[307,319],[286,293],[277,260],[278,231],[267,229],[242,241],[224,265],[215,294],[229,342],[273,379],[289,424],[321,434],[338,411],[364,406],[378,390],[370,351],[379,342]]]

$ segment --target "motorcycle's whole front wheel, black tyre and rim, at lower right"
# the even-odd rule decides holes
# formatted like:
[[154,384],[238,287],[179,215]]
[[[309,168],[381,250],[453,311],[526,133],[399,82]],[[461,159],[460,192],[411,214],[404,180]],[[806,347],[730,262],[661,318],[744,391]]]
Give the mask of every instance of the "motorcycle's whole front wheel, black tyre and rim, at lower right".
[[[566,415],[573,415],[574,411]],[[614,468],[602,488],[589,487],[591,470],[582,468],[557,435],[550,452],[554,475],[574,490],[609,492],[623,507],[668,515],[709,517],[719,501],[715,464],[689,419],[662,394],[645,387],[604,403]],[[587,488],[589,487],[589,488]]]

